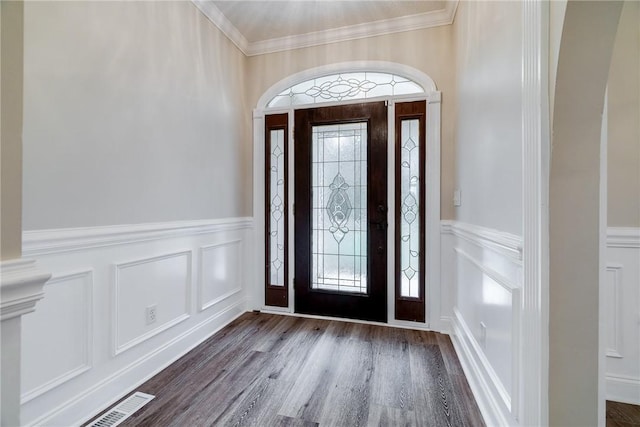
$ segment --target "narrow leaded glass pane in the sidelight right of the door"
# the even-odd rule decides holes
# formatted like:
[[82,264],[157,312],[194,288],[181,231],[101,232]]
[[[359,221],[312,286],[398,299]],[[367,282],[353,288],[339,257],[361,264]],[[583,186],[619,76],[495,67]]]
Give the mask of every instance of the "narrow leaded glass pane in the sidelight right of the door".
[[400,296],[420,297],[420,120],[402,120],[400,149]]

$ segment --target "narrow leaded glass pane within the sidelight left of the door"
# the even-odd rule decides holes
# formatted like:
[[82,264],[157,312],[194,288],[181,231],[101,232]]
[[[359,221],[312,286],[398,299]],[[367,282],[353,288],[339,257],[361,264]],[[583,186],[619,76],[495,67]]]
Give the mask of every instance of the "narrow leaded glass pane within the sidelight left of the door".
[[284,206],[284,129],[272,129],[270,132],[270,165],[269,179],[269,284],[285,285],[285,206]]

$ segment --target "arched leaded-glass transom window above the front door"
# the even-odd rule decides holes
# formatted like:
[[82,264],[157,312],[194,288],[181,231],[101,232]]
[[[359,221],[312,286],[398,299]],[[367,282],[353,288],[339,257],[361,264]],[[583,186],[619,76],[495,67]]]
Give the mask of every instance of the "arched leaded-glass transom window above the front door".
[[370,99],[424,93],[416,82],[395,74],[376,72],[340,73],[307,80],[283,90],[268,107],[318,104],[331,101]]

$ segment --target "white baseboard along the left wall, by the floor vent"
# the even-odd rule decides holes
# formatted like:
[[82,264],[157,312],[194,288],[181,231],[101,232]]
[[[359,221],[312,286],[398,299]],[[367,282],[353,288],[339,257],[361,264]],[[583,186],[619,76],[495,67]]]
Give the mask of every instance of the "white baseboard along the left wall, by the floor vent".
[[246,312],[242,299],[210,316],[155,351],[69,399],[29,425],[81,425],[126,396],[154,375]]

